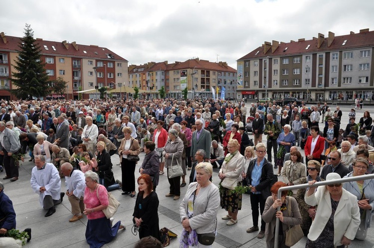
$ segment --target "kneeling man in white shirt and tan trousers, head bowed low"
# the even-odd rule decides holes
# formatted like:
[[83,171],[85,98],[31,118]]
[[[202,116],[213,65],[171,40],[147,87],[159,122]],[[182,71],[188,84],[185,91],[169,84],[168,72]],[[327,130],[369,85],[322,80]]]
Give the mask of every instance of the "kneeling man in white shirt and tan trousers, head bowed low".
[[61,172],[65,176],[66,195],[68,196],[71,213],[73,214],[69,222],[75,222],[83,218],[83,198],[84,190],[86,189],[84,173],[75,169],[70,163],[63,163],[61,165]]

